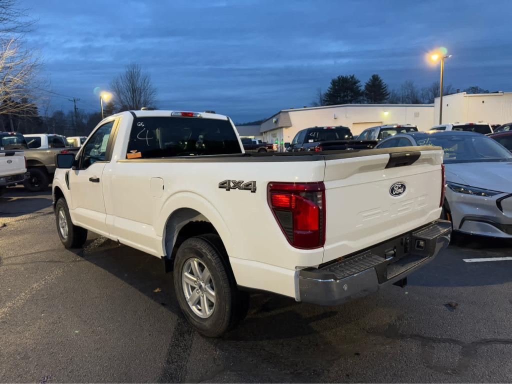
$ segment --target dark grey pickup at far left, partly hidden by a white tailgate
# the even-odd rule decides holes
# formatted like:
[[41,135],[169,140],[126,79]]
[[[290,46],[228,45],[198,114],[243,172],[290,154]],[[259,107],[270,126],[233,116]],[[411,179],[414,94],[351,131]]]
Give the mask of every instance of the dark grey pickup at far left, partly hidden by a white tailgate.
[[57,148],[30,149],[25,137],[17,132],[0,132],[0,140],[0,150],[22,150],[25,153],[29,175],[23,186],[31,192],[48,188],[55,172],[55,155],[78,151],[78,148],[66,147],[65,144]]

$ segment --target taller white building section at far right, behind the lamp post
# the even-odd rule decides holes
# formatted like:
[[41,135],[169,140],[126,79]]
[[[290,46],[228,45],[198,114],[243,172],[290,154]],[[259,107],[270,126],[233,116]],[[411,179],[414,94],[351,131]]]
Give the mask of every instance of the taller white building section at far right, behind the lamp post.
[[[435,124],[439,123],[439,97],[435,100]],[[504,124],[512,121],[512,92],[443,96],[442,123]]]

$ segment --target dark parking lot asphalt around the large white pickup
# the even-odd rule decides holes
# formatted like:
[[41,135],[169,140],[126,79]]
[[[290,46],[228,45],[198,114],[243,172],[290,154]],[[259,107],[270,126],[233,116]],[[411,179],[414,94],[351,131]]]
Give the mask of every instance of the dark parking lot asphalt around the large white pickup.
[[455,236],[338,307],[253,294],[222,338],[185,322],[161,260],[90,233],[66,250],[50,192],[0,197],[2,382],[510,382],[512,243]]

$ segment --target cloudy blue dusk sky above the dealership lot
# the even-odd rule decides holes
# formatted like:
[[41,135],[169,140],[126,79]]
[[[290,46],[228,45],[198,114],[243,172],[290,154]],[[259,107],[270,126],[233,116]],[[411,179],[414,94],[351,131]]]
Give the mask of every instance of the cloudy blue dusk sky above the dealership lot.
[[[310,105],[330,79],[378,73],[390,88],[437,80],[425,54],[446,47],[445,81],[512,91],[512,1],[31,0],[28,37],[49,90],[98,108],[130,62],[149,72],[162,109],[215,110],[235,121]],[[53,95],[52,109],[72,108]]]

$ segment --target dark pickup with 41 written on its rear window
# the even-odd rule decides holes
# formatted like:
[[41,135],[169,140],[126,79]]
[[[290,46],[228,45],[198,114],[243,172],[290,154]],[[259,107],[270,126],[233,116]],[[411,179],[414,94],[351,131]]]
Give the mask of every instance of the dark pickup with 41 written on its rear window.
[[286,152],[368,150],[377,145],[373,140],[354,140],[346,126],[315,126],[297,132]]

